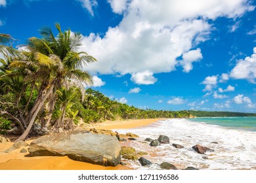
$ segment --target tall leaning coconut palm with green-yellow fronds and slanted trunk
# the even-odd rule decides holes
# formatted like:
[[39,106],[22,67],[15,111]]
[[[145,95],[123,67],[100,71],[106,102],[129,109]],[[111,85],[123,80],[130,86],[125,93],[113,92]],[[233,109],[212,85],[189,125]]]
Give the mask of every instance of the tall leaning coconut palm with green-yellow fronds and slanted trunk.
[[[37,114],[49,100],[50,96],[56,95],[56,91],[64,84],[69,82],[80,88],[83,84],[92,84],[93,80],[87,71],[81,71],[83,65],[87,65],[95,58],[86,52],[78,52],[83,39],[79,33],[72,33],[70,29],[62,32],[60,24],[55,24],[58,35],[54,37],[50,28],[41,29],[42,39],[32,37],[26,46],[28,52],[23,54],[20,60],[12,61],[11,69],[28,69],[37,76],[39,83],[38,95],[33,102],[32,108],[24,115],[26,120],[26,130],[16,140],[24,140],[30,133]],[[54,103],[51,103],[53,108]]]

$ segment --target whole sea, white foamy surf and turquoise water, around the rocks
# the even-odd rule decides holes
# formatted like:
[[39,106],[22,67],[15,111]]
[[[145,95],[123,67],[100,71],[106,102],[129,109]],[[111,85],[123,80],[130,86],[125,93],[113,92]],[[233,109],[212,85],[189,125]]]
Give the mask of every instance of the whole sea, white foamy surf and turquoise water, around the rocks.
[[[139,135],[137,141],[123,142],[122,146],[133,146],[137,152],[148,152],[143,157],[152,162],[149,166],[142,167],[139,161],[122,159],[133,169],[161,169],[162,162],[172,163],[178,169],[256,169],[255,117],[169,119],[117,131]],[[152,147],[144,141],[146,138],[158,139],[159,135],[167,135],[170,144]],[[184,148],[177,149],[172,146],[173,143]],[[198,154],[192,149],[196,144],[215,152]]]

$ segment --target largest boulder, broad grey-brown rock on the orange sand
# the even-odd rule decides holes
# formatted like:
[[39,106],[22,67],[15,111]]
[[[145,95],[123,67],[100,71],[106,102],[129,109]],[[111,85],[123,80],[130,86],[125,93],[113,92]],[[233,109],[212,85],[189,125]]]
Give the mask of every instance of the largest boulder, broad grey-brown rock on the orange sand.
[[121,162],[121,147],[116,137],[87,131],[65,131],[45,135],[31,142],[31,156],[68,156],[96,165],[116,166]]

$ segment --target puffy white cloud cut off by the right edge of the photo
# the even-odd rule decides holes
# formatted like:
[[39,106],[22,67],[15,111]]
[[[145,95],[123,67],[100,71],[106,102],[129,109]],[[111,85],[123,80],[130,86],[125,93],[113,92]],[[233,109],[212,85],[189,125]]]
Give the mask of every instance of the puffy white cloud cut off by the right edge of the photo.
[[235,79],[246,79],[255,83],[256,78],[256,47],[253,48],[253,54],[245,59],[240,59],[236,66],[230,72],[230,77]]

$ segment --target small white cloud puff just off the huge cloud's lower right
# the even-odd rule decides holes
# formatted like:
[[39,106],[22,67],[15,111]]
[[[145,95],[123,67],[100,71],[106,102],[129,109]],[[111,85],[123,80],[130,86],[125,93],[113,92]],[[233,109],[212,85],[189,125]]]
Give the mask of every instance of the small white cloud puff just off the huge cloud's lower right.
[[192,63],[194,61],[200,61],[202,59],[201,49],[197,48],[196,50],[190,50],[182,55],[181,65],[183,66],[183,72],[188,73],[193,69]]

